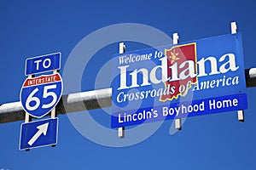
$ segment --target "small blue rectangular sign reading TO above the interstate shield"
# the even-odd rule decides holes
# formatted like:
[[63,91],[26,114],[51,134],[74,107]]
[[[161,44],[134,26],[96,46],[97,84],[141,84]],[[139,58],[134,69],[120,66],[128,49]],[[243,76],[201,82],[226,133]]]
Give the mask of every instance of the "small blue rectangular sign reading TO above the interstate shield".
[[61,53],[47,54],[26,59],[25,75],[59,70],[61,68]]

